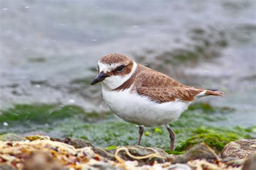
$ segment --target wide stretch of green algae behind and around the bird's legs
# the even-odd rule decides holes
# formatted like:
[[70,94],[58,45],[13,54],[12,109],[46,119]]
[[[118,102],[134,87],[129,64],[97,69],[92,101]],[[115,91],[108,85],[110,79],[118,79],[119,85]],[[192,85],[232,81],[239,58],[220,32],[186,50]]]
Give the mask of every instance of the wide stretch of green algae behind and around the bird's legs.
[[[223,115],[232,114],[232,111],[231,108],[212,107],[207,103],[191,105],[178,121],[170,123],[171,128],[176,132],[176,152],[168,153],[182,154],[187,148],[201,142],[220,151],[230,141],[256,136],[254,126],[226,128],[209,125],[212,122],[222,121]],[[29,114],[30,122],[28,117],[25,118],[26,114]],[[106,112],[103,115],[107,116],[97,112],[86,112],[76,105],[19,104],[2,110],[0,126],[3,122],[8,122],[9,126],[1,126],[0,134],[42,133],[56,138],[84,139],[95,146],[109,149],[115,146],[137,144],[138,125],[124,122],[112,112]],[[163,126],[145,128],[141,145],[167,150],[170,146],[169,133]]]

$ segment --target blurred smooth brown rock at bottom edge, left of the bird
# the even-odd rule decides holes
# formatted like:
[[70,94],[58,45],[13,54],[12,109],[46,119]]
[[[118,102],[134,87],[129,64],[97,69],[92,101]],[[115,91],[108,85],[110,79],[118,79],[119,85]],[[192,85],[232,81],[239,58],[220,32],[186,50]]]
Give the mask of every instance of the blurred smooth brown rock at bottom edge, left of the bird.
[[62,164],[56,161],[50,153],[33,152],[25,161],[23,170],[61,170]]

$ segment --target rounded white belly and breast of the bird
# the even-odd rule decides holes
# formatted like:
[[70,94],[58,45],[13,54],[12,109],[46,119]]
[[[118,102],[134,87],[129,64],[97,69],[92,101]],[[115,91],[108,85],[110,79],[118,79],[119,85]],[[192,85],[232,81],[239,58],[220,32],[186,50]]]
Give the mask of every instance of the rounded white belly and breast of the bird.
[[156,103],[148,97],[123,91],[102,90],[105,102],[117,116],[126,122],[144,126],[164,125],[176,121],[191,102],[176,100]]

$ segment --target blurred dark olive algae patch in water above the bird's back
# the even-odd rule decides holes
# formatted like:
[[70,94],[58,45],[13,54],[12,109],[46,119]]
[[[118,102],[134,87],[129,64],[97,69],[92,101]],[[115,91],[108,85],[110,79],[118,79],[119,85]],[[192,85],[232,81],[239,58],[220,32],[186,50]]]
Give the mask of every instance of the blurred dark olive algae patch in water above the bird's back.
[[[187,37],[191,39],[192,43],[186,44],[186,48],[177,47],[157,54],[157,59],[163,62],[160,62],[154,68],[161,70],[169,67],[169,65],[179,66],[186,63],[198,63],[200,60],[217,58],[220,56],[221,49],[228,46],[226,34],[223,31],[215,30],[213,27],[209,27],[207,30],[202,28],[192,29]],[[151,53],[157,52],[152,51]],[[143,56],[136,54],[134,56],[143,58]]]

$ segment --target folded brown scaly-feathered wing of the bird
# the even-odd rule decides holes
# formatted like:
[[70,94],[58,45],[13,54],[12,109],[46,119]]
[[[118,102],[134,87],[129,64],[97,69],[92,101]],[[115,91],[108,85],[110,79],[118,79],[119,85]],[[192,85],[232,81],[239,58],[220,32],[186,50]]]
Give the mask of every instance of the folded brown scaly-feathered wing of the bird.
[[139,65],[140,72],[136,78],[136,91],[139,95],[147,96],[159,103],[174,101],[193,101],[194,96],[204,89],[185,86],[171,77]]

